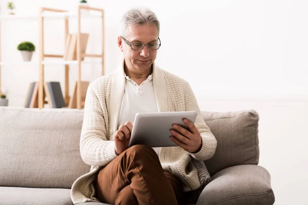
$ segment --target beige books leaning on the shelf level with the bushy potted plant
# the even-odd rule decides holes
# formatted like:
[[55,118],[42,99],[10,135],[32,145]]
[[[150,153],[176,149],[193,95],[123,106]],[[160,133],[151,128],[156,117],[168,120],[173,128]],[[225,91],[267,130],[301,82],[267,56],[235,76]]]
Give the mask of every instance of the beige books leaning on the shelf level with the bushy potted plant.
[[[77,37],[78,34],[68,34],[65,42],[65,53],[64,60],[77,60]],[[86,53],[86,48],[88,44],[89,34],[81,33],[80,34],[80,48],[81,54]],[[81,55],[81,60],[84,60],[84,56]]]

